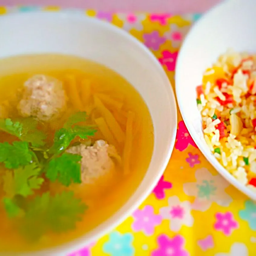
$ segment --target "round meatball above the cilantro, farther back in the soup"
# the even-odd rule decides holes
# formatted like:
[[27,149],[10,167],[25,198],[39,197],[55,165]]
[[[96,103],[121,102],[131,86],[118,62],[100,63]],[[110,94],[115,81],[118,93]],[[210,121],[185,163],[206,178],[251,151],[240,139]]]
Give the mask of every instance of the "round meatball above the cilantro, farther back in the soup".
[[24,84],[18,111],[23,117],[53,120],[66,109],[67,97],[61,81],[54,77],[35,75]]

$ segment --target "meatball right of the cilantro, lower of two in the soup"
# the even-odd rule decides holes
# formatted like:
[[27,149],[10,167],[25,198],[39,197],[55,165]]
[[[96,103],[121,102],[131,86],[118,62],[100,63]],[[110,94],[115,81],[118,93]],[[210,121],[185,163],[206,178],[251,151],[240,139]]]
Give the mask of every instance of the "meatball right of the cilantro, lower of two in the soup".
[[104,140],[97,140],[93,146],[83,144],[73,146],[66,152],[82,156],[81,178],[83,184],[91,184],[115,168],[111,157],[117,155],[116,149]]

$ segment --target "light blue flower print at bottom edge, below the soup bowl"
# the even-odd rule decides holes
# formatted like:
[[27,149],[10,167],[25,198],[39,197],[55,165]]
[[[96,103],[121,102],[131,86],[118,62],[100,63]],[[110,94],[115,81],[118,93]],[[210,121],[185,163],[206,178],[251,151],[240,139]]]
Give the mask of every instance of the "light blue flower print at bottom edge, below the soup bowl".
[[109,235],[110,239],[103,245],[103,251],[111,256],[133,256],[134,248],[131,245],[133,236],[130,233],[120,234],[117,231]]

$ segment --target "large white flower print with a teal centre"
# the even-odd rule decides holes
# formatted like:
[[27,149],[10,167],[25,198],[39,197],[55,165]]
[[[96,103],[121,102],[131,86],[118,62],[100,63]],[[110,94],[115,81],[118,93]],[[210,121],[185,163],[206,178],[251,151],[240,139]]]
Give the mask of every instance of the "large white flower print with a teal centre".
[[195,196],[192,209],[204,212],[212,202],[220,206],[228,206],[232,202],[231,196],[225,192],[230,184],[219,174],[212,175],[208,169],[201,168],[196,170],[195,178],[196,182],[183,184],[185,194]]

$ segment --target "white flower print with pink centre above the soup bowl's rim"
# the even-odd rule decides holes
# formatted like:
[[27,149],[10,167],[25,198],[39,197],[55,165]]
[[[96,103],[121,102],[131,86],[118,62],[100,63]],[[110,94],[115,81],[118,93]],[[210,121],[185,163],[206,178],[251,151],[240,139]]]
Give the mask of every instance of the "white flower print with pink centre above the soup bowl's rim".
[[126,31],[130,31],[131,29],[135,28],[138,31],[143,30],[142,21],[146,19],[145,14],[127,14],[127,13],[120,13],[117,15],[123,23],[123,29]]

